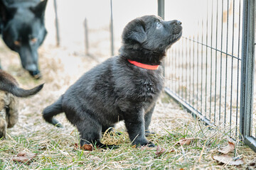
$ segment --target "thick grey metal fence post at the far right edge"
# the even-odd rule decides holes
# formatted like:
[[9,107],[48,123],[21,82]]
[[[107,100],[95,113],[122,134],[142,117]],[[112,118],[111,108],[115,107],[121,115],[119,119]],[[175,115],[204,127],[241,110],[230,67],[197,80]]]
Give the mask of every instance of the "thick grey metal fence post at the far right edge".
[[242,23],[242,67],[240,98],[240,139],[256,151],[252,137],[252,101],[255,67],[255,0],[244,0]]

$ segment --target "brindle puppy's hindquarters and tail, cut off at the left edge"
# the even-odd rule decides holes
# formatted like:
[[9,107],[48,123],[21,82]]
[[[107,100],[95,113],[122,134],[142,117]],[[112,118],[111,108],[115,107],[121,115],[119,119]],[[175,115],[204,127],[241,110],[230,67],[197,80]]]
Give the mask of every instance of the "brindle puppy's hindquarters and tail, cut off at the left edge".
[[18,97],[27,97],[38,93],[43,84],[31,90],[18,87],[10,74],[0,69],[0,139],[6,137],[6,128],[12,128],[18,121]]

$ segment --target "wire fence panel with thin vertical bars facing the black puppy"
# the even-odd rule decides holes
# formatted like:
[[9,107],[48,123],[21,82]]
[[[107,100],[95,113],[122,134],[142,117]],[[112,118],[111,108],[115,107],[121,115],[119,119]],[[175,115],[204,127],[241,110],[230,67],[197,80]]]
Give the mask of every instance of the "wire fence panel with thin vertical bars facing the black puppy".
[[[201,0],[172,4],[193,6],[186,8],[188,16],[171,8],[166,1],[171,12],[165,17],[180,17],[184,28],[182,39],[166,57],[166,91],[206,123],[218,125],[233,138],[240,136],[243,124],[240,101],[244,94],[240,89],[242,62],[245,62],[242,31],[246,20],[243,13],[248,10],[246,2]],[[254,3],[250,5],[254,7]],[[255,113],[250,114],[254,114],[250,117],[250,136],[255,137]]]

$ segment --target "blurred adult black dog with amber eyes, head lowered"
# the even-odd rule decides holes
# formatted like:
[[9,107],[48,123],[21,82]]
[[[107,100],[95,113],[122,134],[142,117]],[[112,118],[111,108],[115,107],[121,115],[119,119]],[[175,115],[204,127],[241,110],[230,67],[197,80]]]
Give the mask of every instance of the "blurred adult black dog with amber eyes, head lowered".
[[2,38],[11,50],[18,52],[23,68],[36,79],[41,77],[37,50],[47,33],[44,26],[47,1],[0,0]]

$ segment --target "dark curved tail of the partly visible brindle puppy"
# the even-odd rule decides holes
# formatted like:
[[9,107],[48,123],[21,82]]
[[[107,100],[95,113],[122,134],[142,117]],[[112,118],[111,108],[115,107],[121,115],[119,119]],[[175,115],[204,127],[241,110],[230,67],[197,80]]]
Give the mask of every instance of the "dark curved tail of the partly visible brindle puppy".
[[33,94],[37,94],[41,91],[43,84],[34,87],[33,89],[25,90],[18,87],[17,81],[6,72],[0,72],[0,90],[7,91],[17,97],[28,97]]

